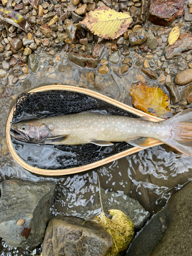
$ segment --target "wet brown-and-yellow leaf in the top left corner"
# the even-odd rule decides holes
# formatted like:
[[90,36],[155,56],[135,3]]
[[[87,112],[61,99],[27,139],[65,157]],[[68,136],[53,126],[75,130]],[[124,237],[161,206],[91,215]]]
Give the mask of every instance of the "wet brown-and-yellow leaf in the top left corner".
[[0,18],[4,22],[10,23],[11,25],[28,32],[30,30],[27,20],[20,15],[19,12],[14,11],[11,8],[0,6]]

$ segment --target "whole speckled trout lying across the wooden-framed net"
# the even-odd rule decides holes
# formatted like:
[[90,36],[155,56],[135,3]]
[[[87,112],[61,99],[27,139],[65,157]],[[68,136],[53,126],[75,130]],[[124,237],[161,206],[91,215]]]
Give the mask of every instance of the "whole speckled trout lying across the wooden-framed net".
[[93,112],[59,115],[11,124],[10,135],[24,142],[55,145],[110,146],[125,141],[143,149],[149,146],[148,138],[154,138],[192,156],[192,110],[160,122]]

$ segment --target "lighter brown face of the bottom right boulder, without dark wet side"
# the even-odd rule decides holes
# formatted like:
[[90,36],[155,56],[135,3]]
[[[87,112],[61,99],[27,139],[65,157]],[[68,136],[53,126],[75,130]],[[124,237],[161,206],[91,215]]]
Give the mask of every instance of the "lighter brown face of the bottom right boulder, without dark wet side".
[[191,254],[191,197],[190,182],[170,198],[163,210],[167,216],[168,227],[150,256]]

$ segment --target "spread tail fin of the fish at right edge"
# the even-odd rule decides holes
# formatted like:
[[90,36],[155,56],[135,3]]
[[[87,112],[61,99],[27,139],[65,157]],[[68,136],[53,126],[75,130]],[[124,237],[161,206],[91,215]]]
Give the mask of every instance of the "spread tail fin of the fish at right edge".
[[162,141],[177,151],[192,156],[192,109],[184,110],[165,122],[171,125],[171,135]]

